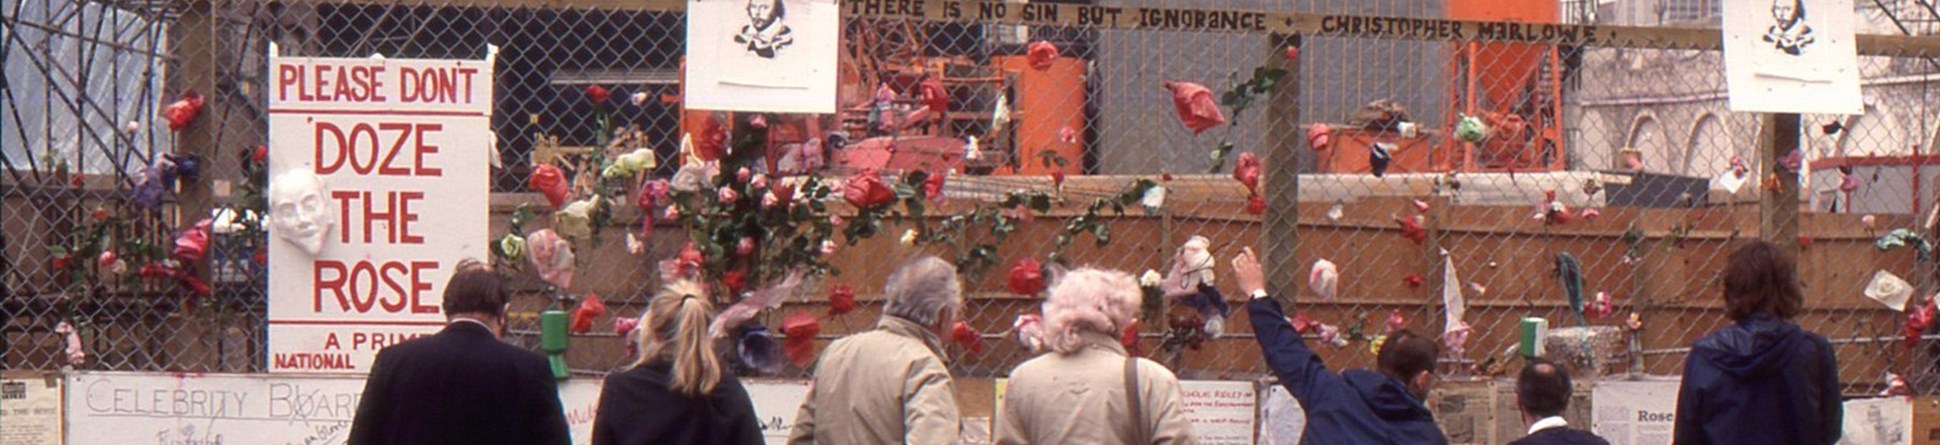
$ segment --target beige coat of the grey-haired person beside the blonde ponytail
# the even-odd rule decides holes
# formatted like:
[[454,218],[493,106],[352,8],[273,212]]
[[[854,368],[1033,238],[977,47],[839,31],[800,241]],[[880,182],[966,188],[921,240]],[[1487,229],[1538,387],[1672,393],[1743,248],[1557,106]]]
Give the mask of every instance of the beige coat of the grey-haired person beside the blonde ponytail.
[[896,317],[823,352],[788,443],[956,443],[956,389],[935,332]]

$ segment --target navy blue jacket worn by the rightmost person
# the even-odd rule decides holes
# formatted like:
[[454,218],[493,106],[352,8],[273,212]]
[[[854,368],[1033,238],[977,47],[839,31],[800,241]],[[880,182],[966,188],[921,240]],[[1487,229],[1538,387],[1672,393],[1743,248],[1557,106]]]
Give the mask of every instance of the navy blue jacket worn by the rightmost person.
[[1826,336],[1752,315],[1692,346],[1674,443],[1837,443],[1841,416]]

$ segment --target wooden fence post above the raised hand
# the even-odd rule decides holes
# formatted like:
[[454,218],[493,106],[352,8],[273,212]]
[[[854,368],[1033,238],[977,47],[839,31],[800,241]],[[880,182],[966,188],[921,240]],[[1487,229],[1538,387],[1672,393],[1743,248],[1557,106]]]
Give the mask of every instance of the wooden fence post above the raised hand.
[[1263,171],[1261,192],[1267,212],[1261,214],[1259,245],[1261,268],[1267,272],[1267,291],[1282,301],[1300,290],[1300,258],[1294,247],[1300,245],[1300,148],[1306,132],[1300,128],[1300,58],[1288,58],[1288,47],[1300,47],[1300,35],[1267,37],[1265,66],[1286,70],[1286,78],[1275,84],[1267,97],[1267,142],[1261,154]]

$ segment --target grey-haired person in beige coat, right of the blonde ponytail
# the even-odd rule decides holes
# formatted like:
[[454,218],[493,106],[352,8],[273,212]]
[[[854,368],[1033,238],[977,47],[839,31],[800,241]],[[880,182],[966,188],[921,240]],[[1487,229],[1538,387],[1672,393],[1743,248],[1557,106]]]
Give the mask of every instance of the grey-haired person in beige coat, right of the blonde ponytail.
[[918,258],[883,288],[875,330],[823,352],[790,445],[956,443],[956,389],[943,363],[943,332],[962,309],[956,266]]

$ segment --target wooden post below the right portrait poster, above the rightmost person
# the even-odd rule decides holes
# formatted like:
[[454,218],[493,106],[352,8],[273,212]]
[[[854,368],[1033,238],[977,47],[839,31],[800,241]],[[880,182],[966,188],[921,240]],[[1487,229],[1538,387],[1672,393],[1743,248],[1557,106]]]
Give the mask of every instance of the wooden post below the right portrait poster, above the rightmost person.
[[[1760,119],[1758,159],[1760,194],[1758,235],[1773,245],[1798,255],[1798,171],[1779,167],[1779,159],[1798,150],[1798,115],[1773,113]],[[1763,181],[1777,177],[1777,190],[1765,188]]]

